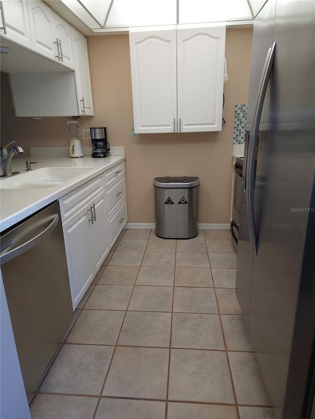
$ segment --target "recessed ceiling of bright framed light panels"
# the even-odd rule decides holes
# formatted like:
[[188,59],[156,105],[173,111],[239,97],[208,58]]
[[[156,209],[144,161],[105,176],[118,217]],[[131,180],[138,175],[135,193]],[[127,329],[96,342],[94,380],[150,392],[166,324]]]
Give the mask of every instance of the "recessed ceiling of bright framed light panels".
[[[45,3],[64,19],[72,13],[92,33],[102,33],[152,26],[212,22],[252,23],[266,1],[268,0],[48,0]],[[64,13],[65,9],[68,13]]]

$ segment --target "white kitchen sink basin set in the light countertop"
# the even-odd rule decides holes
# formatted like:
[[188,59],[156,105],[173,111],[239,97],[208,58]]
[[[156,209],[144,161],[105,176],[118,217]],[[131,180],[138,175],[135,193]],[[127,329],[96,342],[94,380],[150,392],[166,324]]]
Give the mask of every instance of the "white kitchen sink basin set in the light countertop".
[[41,168],[1,178],[0,189],[53,188],[92,168]]

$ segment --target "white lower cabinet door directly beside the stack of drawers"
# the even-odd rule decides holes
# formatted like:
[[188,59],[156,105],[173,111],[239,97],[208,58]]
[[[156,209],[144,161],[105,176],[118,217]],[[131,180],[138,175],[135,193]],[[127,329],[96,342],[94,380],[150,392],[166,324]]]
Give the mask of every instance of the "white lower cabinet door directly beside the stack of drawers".
[[107,233],[106,199],[105,192],[96,196],[89,206],[94,204],[96,220],[90,226],[91,249],[94,261],[95,274],[109,252],[109,240]]

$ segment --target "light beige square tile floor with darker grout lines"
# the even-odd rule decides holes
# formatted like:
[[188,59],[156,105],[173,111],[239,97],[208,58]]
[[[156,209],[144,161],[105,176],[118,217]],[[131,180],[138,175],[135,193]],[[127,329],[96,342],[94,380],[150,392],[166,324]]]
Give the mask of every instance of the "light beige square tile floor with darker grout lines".
[[33,419],[274,419],[227,230],[124,230],[73,315]]

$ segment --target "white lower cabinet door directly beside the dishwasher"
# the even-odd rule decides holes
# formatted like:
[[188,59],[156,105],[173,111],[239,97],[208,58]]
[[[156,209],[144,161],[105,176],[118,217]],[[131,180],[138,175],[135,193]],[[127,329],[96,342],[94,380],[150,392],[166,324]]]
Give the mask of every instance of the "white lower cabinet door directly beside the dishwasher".
[[90,248],[91,213],[84,207],[63,223],[63,237],[70,280],[73,310],[94,278]]

